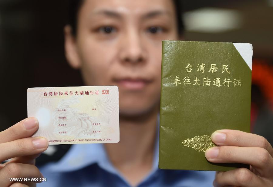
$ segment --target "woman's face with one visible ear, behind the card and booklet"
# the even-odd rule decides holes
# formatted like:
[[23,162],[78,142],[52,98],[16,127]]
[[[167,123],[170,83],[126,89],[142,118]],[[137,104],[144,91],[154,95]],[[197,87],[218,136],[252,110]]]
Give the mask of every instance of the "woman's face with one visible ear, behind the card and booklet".
[[85,0],[77,35],[66,27],[66,56],[86,85],[117,85],[120,114],[159,106],[161,41],[177,40],[172,0]]

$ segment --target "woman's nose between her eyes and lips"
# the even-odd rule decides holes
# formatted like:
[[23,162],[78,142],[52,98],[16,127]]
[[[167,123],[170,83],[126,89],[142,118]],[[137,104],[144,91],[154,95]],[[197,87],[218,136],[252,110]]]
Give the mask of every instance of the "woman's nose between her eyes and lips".
[[147,60],[147,51],[140,36],[134,30],[128,30],[120,42],[120,62],[123,64],[143,64]]

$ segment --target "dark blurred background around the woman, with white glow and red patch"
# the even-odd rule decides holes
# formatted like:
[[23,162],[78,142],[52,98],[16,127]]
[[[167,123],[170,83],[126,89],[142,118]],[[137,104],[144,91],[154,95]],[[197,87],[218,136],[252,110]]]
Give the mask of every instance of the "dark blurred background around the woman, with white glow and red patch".
[[[273,0],[184,0],[185,40],[253,44],[251,131],[273,144]],[[0,0],[0,131],[27,117],[29,87],[83,86],[64,56],[66,0]]]

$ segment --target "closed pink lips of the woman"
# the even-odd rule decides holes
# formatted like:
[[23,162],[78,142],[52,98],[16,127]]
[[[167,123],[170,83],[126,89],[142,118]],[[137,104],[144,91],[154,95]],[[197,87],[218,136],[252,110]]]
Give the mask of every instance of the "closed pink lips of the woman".
[[151,83],[151,80],[144,78],[119,78],[114,81],[119,87],[130,90],[141,90]]

